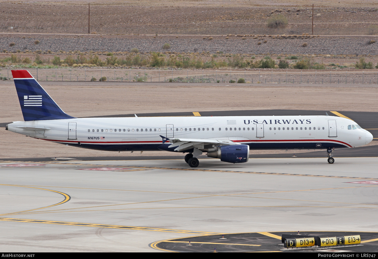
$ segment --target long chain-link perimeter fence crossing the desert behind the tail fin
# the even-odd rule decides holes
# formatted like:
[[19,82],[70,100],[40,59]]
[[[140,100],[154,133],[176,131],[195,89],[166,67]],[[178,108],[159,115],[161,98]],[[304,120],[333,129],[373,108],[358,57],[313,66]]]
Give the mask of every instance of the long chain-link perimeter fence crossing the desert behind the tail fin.
[[[189,70],[189,69],[27,69],[37,81],[65,82],[174,82],[174,83],[254,83],[254,84],[363,84],[377,85],[378,71],[285,71]],[[0,80],[13,80],[11,69],[0,69]]]

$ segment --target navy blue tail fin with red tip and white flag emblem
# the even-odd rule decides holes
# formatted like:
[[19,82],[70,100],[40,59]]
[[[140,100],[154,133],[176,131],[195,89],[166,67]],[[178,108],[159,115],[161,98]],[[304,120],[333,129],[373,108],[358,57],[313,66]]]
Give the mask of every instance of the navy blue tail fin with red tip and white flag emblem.
[[54,102],[28,70],[12,70],[24,120],[73,119]]

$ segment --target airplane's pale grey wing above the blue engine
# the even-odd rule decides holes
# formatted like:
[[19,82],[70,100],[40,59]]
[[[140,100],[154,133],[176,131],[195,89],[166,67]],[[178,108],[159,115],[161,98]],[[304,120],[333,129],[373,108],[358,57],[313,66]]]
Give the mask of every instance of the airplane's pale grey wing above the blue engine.
[[[164,137],[163,137],[164,139]],[[240,145],[240,143],[232,142],[228,139],[184,139],[184,138],[175,138],[167,139],[164,142],[169,142],[171,145],[168,148],[176,147],[175,151],[184,151],[190,148],[202,149],[204,145]]]

